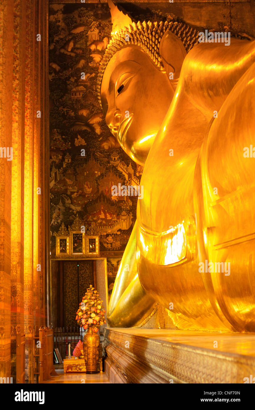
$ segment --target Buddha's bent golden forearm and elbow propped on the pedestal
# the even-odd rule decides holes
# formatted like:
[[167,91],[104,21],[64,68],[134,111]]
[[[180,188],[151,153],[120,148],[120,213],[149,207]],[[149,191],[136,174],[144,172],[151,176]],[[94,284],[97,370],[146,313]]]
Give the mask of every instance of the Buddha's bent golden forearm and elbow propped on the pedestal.
[[137,273],[136,222],[126,245],[108,307],[111,326],[136,326],[149,315],[155,301],[147,296]]

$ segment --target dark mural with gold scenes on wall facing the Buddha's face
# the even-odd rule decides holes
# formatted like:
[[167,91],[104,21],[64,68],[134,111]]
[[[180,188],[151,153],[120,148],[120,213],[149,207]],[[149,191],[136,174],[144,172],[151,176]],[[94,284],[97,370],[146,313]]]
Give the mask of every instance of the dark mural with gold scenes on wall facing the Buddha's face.
[[112,196],[114,185],[139,185],[142,167],[120,148],[97,100],[97,71],[111,33],[109,9],[100,6],[50,5],[52,256],[54,234],[77,214],[95,223],[101,255],[121,256],[136,218],[137,196]]

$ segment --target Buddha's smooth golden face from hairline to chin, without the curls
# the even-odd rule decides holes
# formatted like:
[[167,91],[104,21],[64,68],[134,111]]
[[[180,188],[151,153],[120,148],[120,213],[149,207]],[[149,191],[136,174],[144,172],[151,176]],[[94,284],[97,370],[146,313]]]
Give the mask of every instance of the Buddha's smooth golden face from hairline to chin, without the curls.
[[144,165],[173,96],[167,75],[138,46],[121,48],[106,66],[101,87],[106,123],[138,164]]

